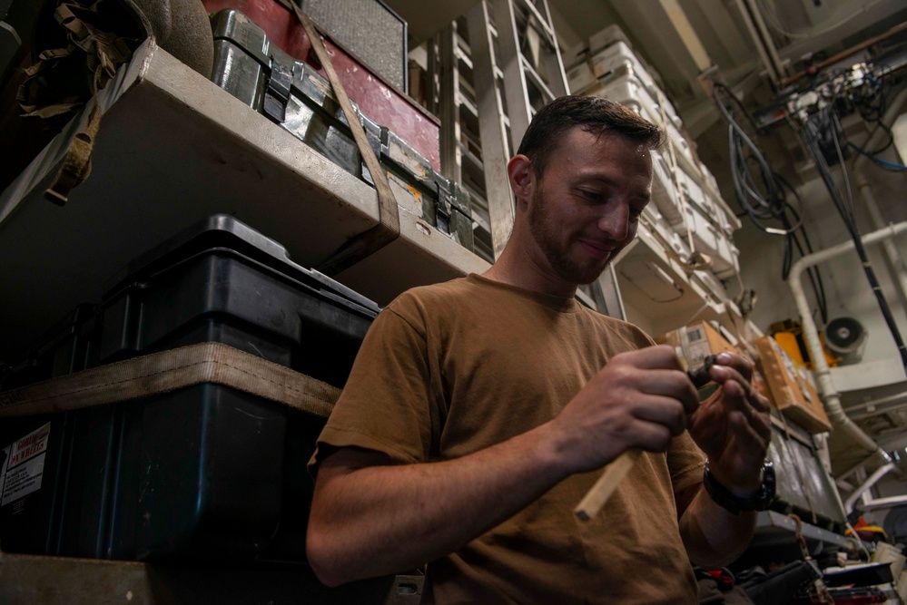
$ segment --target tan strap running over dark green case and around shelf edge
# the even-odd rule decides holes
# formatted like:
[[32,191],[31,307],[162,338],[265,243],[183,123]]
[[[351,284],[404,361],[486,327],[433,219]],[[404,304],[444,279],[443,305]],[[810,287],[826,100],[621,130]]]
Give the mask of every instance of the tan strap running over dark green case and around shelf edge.
[[337,275],[346,268],[350,268],[361,259],[365,259],[370,254],[384,248],[391,241],[399,237],[399,208],[397,206],[397,199],[394,198],[393,191],[390,190],[388,176],[381,168],[378,158],[375,157],[375,152],[371,150],[369,141],[365,136],[365,130],[363,130],[359,120],[359,116],[356,114],[356,110],[353,109],[350,97],[343,89],[343,85],[340,83],[340,78],[337,77],[337,72],[334,70],[333,64],[330,63],[330,55],[328,54],[328,51],[325,50],[320,35],[315,29],[315,25],[311,23],[309,17],[300,10],[300,7],[297,6],[293,0],[290,0],[289,4],[291,5],[293,13],[295,13],[296,17],[300,20],[302,29],[305,30],[305,34],[309,36],[311,48],[315,51],[315,56],[318,57],[321,67],[324,68],[324,73],[328,76],[330,87],[334,90],[334,95],[340,103],[340,108],[343,109],[343,114],[347,118],[347,123],[350,124],[350,131],[352,132],[353,139],[356,141],[356,145],[359,147],[362,161],[365,162],[366,168],[369,169],[371,180],[375,183],[375,190],[378,191],[379,224],[347,241],[330,257],[330,259],[327,259],[318,267],[318,270],[321,273],[332,276]]

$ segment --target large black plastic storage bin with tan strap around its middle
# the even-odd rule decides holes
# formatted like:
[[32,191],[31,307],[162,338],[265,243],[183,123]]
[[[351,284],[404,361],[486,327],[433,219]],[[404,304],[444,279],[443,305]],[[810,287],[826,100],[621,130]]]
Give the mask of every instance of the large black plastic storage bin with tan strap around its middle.
[[[226,215],[167,240],[111,283],[94,317],[91,364],[213,341],[342,386],[379,311]],[[50,430],[40,489],[0,507],[0,546],[126,560],[304,560],[305,465],[324,420],[215,384],[5,419],[0,450]]]

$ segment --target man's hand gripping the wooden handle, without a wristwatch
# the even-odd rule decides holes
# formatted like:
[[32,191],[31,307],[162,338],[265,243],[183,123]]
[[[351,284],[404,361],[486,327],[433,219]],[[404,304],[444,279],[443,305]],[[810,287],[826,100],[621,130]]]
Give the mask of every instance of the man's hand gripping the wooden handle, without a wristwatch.
[[600,468],[626,450],[664,451],[699,397],[671,346],[611,358],[549,428],[568,473]]

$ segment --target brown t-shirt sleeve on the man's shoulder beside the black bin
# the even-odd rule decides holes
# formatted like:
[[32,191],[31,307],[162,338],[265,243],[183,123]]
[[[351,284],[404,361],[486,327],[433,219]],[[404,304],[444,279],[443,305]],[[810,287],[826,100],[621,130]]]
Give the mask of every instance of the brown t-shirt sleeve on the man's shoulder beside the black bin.
[[426,334],[418,314],[401,314],[398,303],[381,311],[360,347],[309,462],[313,475],[326,456],[342,447],[387,454],[401,464],[429,458]]

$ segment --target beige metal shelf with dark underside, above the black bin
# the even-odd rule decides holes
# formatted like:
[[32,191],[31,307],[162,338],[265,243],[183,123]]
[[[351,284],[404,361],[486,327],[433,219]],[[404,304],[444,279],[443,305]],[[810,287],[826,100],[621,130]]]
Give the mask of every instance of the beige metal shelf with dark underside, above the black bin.
[[[0,196],[0,359],[21,356],[76,304],[99,301],[133,257],[216,212],[277,240],[305,267],[378,224],[369,185],[152,42],[98,100],[93,171],[65,206],[43,191],[76,121]],[[383,305],[406,288],[488,267],[409,212],[400,229],[334,277]]]

